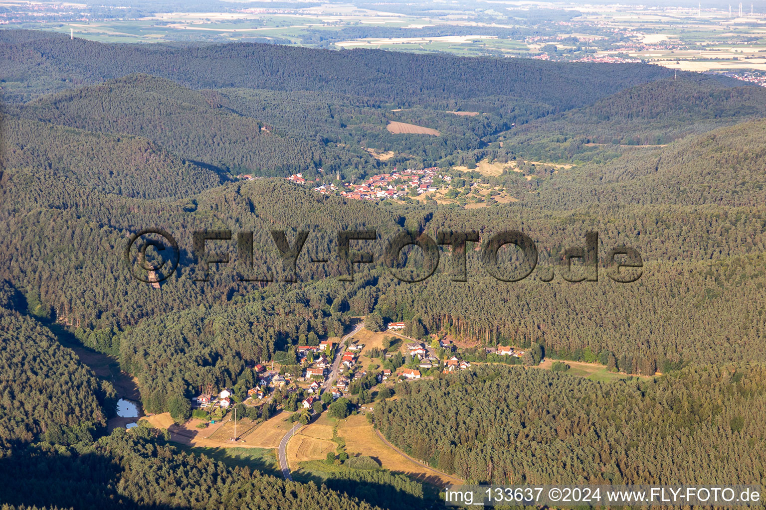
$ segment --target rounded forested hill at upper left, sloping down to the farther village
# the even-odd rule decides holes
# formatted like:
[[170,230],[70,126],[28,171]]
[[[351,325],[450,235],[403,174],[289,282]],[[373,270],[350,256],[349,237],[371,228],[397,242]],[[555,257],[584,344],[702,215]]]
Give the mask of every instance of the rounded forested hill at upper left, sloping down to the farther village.
[[329,152],[315,139],[273,132],[224,108],[218,96],[137,74],[43,96],[11,113],[91,132],[142,136],[174,154],[237,174],[285,176],[322,166],[332,172],[375,166],[364,151]]

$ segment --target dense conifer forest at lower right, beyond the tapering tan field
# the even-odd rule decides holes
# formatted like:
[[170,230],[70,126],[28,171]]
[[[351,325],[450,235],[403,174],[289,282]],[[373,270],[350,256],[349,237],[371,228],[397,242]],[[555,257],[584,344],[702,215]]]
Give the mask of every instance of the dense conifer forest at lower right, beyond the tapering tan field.
[[484,365],[398,385],[375,424],[476,483],[747,483],[764,473],[764,376],[741,364],[602,384]]

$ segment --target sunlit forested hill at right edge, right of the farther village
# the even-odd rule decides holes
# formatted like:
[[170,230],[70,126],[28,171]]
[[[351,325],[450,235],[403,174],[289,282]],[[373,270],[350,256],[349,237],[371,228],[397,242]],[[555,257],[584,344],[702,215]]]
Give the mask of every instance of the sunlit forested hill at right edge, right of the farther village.
[[528,200],[546,209],[584,204],[761,206],[766,202],[766,120],[637,148],[607,164],[557,175]]

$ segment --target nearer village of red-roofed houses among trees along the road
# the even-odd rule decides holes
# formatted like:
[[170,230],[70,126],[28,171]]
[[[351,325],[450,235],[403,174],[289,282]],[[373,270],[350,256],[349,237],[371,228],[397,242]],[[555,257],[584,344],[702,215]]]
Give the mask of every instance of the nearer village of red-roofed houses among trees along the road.
[[[208,388],[192,399],[191,406],[205,411],[205,421],[216,424],[237,403],[254,408],[279,398],[283,408],[293,412],[290,421],[307,424],[312,416],[321,414],[327,405],[340,398],[349,399],[353,408],[372,411],[372,407],[365,406],[372,402],[372,391],[380,395],[382,388],[388,388],[385,394],[393,395],[395,383],[470,369],[471,362],[450,339],[432,335],[430,343],[426,343],[404,336],[401,332],[405,328],[404,322],[388,323],[378,333],[383,336],[379,346],[366,346],[352,337],[342,344],[325,339],[316,346],[296,346],[293,349],[297,365],[282,364],[275,368],[272,363],[267,368],[256,364],[252,368],[257,373],[257,384],[252,388],[246,391],[223,388],[217,392]],[[361,331],[371,334],[369,330]],[[512,346],[480,349],[485,357],[509,356],[513,363],[520,362],[525,353]],[[300,372],[293,373],[295,367],[300,367]],[[294,402],[292,408],[290,399]]]

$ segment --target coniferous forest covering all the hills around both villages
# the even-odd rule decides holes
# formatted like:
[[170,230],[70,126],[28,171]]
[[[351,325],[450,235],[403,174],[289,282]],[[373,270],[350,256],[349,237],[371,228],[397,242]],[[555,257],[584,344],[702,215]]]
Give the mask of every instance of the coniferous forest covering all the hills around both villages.
[[[0,473],[14,480],[2,508],[434,505],[426,484],[383,470],[291,482],[189,453],[143,422],[109,434],[118,391],[67,347],[113,356],[145,411],[163,413],[199,388],[249,388],[257,364],[295,365],[296,346],[342,336],[368,314],[380,329],[404,322],[427,345],[453,340],[473,363],[391,381],[396,397],[367,413],[395,447],[444,473],[764,483],[762,87],[643,64],[100,44],[21,30],[0,31],[0,68]],[[389,122],[439,135],[389,132]],[[472,186],[496,194],[470,207],[312,189],[429,167],[455,197]],[[306,184],[284,178],[299,173]],[[159,288],[133,278],[124,257],[131,236],[152,228],[178,243]],[[228,234],[201,255],[205,229]],[[352,264],[351,280],[338,232],[373,230],[352,241],[372,263]],[[465,281],[449,245],[430,278],[395,278],[386,249],[405,230],[476,232]],[[537,248],[521,281],[496,278],[483,257],[508,230]],[[294,265],[272,231],[290,246],[308,232]],[[581,263],[588,232],[598,233],[597,281],[568,281],[592,274]],[[641,275],[620,283],[609,254],[625,246],[640,252]],[[398,274],[423,274],[423,252],[405,253]],[[208,265],[211,254],[229,261]],[[519,261],[508,248],[498,258],[501,277]],[[484,348],[499,345],[625,377],[486,363],[497,356]]]

